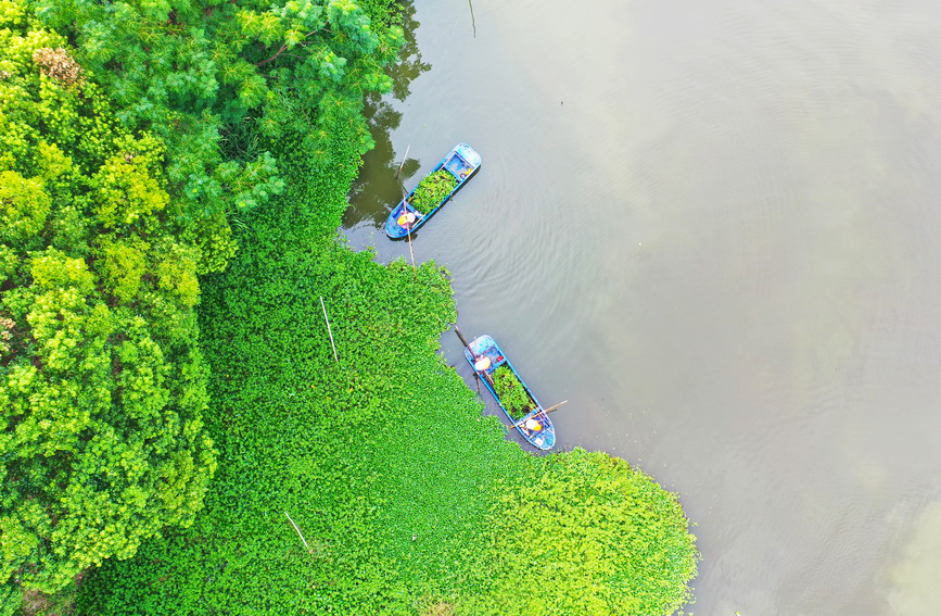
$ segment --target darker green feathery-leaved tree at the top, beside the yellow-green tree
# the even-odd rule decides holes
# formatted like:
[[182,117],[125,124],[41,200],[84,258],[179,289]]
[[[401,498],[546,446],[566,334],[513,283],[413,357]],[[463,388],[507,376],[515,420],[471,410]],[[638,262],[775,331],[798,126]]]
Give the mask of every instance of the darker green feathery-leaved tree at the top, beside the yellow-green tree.
[[39,0],[37,13],[74,38],[122,123],[167,143],[173,192],[196,217],[283,191],[271,143],[390,89],[382,66],[403,42],[351,0]]

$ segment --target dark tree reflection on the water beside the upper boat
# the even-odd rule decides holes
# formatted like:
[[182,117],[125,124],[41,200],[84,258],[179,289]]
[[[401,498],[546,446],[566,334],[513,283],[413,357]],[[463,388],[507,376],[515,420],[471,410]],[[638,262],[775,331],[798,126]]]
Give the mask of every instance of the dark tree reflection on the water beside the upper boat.
[[393,102],[405,101],[411,93],[411,83],[431,70],[431,64],[422,61],[415,38],[419,23],[415,18],[414,2],[402,2],[399,11],[405,45],[399,52],[398,62],[386,70],[393,81],[392,92],[385,96],[370,93],[365,100],[364,114],[376,147],[363,156],[359,177],[351,187],[347,198],[349,206],[343,214],[344,228],[369,221],[377,227],[382,227],[389,212],[402,200],[406,180],[421,168],[418,159],[406,159],[404,163],[396,160],[390,137],[390,133],[398,128],[402,122],[402,112],[395,110]]

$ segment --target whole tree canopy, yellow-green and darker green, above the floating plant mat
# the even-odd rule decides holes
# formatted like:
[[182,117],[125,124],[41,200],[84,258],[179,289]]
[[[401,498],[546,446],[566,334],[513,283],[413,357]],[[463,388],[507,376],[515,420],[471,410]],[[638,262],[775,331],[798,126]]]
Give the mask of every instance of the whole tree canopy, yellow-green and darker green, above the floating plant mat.
[[346,0],[0,1],[5,607],[192,521],[216,464],[198,275],[283,190],[279,138],[328,164],[352,122],[368,147],[400,40]]

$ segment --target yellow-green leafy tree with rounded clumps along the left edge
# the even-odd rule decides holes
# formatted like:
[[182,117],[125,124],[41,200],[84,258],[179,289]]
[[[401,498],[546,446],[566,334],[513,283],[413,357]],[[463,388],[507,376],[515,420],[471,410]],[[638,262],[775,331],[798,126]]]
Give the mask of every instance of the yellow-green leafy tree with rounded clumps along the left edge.
[[228,226],[73,53],[0,3],[0,613],[191,524],[216,466],[193,305]]

